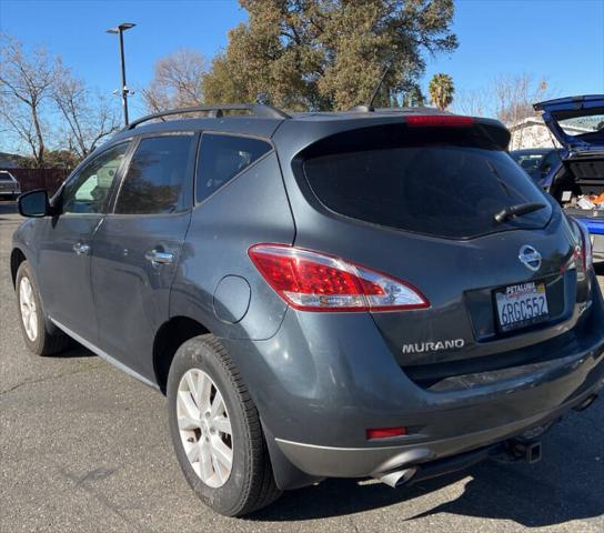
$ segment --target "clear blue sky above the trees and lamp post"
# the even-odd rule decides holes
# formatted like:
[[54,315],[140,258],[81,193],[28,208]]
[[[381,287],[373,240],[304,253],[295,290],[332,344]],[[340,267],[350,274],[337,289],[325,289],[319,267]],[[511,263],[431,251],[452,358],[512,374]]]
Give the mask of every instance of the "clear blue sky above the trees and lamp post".
[[[604,93],[604,0],[457,0],[455,8],[460,47],[427,58],[424,92],[435,72],[452,76],[457,91],[528,72],[545,77],[553,95]],[[48,47],[105,93],[120,84],[118,39],[105,29],[137,23],[124,40],[128,86],[140,89],[161,57],[192,48],[211,59],[244,20],[234,0],[0,0],[0,31]],[[139,95],[131,107],[142,114]]]

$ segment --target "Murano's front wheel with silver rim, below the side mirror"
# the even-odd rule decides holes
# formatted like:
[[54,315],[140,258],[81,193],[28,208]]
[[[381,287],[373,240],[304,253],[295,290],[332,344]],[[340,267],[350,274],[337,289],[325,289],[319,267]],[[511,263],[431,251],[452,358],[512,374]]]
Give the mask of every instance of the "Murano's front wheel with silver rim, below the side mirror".
[[[19,265],[14,286],[17,291],[19,325],[28,350],[38,355],[53,355],[69,348],[71,339],[68,335],[59,330],[51,333],[47,329],[40,292],[28,261],[23,261]],[[27,289],[28,286],[29,290]],[[28,312],[24,312],[23,308],[27,308]],[[27,316],[30,315],[31,319],[28,322]]]

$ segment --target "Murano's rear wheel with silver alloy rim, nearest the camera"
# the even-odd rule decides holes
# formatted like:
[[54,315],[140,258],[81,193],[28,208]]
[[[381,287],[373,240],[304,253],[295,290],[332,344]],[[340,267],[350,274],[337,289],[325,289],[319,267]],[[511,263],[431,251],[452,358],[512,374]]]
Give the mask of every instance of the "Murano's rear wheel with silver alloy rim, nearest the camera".
[[[214,418],[202,413],[207,411],[208,403],[203,401],[203,392],[191,392],[191,379],[197,379],[197,390],[205,391],[208,389],[200,383],[208,386],[208,379],[211,381],[205,398],[213,398],[210,403],[218,405],[220,393],[224,409],[218,412],[222,415]],[[241,516],[269,505],[281,495],[274,482],[255,405],[226,350],[213,335],[197,336],[179,348],[170,368],[167,393],[168,421],[177,457],[187,481],[205,505],[225,516]],[[193,398],[197,400],[191,406],[188,402]],[[192,429],[197,422],[190,424],[189,419],[183,418],[191,413],[198,413],[193,419],[200,422],[199,430]],[[226,428],[222,416],[230,422],[231,435],[213,426],[212,421],[220,419],[220,429]],[[202,428],[204,423],[208,425]],[[214,461],[212,456],[210,463],[202,462],[202,456],[211,456],[213,450],[219,450],[218,441],[232,451],[231,470],[226,475],[228,466],[218,459]],[[214,444],[211,443],[217,442],[217,447],[212,449]],[[220,450],[225,451],[224,446],[220,445]],[[203,464],[207,466],[203,467]],[[207,481],[203,481],[203,476]]]

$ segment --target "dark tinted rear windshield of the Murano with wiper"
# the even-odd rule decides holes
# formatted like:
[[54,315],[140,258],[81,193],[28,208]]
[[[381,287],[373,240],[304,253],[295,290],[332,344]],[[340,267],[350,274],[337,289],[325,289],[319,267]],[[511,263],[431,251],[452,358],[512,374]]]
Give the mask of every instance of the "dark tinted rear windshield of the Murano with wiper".
[[[303,163],[330,210],[399,230],[467,239],[515,228],[543,228],[551,204],[506,152],[423,143],[325,154]],[[538,202],[538,211],[497,223],[502,209]]]

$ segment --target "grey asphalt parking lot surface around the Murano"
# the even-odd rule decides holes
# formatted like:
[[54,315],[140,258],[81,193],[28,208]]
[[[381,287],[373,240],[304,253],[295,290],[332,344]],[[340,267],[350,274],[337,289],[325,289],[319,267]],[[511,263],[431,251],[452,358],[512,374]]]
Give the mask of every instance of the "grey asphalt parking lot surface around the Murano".
[[210,512],[180,473],[163,396],[83,348],[26,351],[9,274],[19,221],[0,202],[2,533],[604,531],[602,400],[555,426],[537,464],[489,462],[400,490],[329,480],[243,520]]

